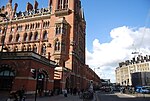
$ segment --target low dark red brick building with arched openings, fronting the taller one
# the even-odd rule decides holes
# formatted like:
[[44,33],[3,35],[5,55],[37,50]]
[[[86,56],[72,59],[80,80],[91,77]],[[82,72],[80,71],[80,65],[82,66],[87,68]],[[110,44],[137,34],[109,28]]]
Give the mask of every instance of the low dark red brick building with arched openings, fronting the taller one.
[[40,71],[38,90],[53,90],[55,62],[34,52],[4,52],[0,61],[0,90],[16,91],[25,88],[26,93],[36,89],[36,79],[31,69]]

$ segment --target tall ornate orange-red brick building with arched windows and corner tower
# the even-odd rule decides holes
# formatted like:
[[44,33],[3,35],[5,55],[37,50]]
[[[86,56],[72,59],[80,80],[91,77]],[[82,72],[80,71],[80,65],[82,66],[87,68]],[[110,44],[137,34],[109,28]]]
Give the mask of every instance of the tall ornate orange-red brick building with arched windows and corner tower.
[[[0,8],[6,15],[0,17],[0,48],[6,49],[3,52],[33,51],[55,61],[55,89],[86,88],[84,83],[96,74],[85,65],[86,21],[81,0],[49,0],[45,8],[38,5],[36,0],[33,5],[28,2],[25,11],[17,12],[18,4],[12,6],[8,0]],[[94,77],[97,84],[100,79]]]

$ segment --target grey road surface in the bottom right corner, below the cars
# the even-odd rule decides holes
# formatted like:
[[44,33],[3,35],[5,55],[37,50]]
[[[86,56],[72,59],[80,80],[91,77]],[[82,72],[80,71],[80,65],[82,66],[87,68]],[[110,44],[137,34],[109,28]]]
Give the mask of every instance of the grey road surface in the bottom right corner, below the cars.
[[150,101],[150,97],[135,97],[120,93],[98,92],[97,101]]

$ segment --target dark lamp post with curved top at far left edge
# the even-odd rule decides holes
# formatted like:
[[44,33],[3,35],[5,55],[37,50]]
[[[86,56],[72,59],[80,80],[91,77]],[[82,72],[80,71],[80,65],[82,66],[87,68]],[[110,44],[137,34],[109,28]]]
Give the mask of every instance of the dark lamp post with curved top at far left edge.
[[6,37],[6,32],[7,32],[7,28],[8,28],[8,18],[6,17],[5,14],[0,14],[0,17],[6,19],[6,27],[4,29],[4,37],[3,37],[3,40],[2,40],[2,48],[1,48],[1,55],[0,55],[0,59],[2,57],[2,53],[3,53],[3,49],[4,49],[4,45],[5,45],[5,37]]

